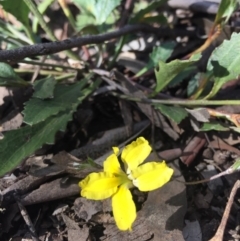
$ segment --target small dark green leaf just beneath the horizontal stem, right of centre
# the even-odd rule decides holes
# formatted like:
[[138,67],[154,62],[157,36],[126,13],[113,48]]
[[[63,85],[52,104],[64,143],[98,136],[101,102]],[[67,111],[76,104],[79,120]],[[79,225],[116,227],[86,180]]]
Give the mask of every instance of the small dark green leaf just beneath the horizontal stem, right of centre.
[[184,118],[188,116],[188,112],[182,107],[162,104],[156,104],[154,107],[155,109],[160,110],[163,115],[176,122],[177,124],[179,124]]

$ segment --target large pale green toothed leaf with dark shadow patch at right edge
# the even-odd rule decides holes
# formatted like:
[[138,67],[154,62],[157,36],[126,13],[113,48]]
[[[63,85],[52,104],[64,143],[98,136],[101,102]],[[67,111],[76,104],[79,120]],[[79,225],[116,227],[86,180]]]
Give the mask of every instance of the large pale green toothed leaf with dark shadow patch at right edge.
[[230,40],[224,40],[216,48],[209,61],[208,71],[212,71],[214,85],[208,96],[211,98],[230,80],[238,78],[240,74],[240,34],[233,33]]

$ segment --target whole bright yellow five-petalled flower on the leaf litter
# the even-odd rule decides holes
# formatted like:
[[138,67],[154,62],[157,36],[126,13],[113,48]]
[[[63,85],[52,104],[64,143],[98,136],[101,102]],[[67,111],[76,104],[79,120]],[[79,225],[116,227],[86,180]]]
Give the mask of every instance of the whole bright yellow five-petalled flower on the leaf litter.
[[141,165],[151,150],[143,137],[127,145],[121,154],[125,172],[118,161],[119,149],[113,147],[114,153],[105,160],[103,172],[91,173],[79,183],[82,197],[93,200],[112,197],[113,216],[120,230],[131,230],[137,216],[129,189],[152,191],[166,184],[173,174],[165,162]]

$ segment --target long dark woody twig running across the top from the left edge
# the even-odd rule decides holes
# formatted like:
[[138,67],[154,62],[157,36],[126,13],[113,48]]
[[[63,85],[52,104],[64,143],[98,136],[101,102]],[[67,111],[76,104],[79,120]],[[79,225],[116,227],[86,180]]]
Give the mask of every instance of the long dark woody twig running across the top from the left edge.
[[48,54],[54,54],[58,53],[64,50],[68,50],[75,47],[81,47],[83,45],[87,44],[98,44],[103,43],[107,40],[119,38],[123,35],[134,33],[134,32],[152,32],[156,35],[160,35],[161,37],[164,36],[172,36],[175,34],[185,34],[185,35],[191,35],[194,34],[192,31],[185,31],[185,32],[179,32],[177,30],[171,30],[169,28],[155,28],[151,27],[150,25],[145,24],[136,24],[136,25],[126,25],[123,28],[112,31],[105,34],[99,34],[99,35],[90,35],[90,36],[83,36],[83,37],[75,37],[75,38],[69,38],[65,39],[63,41],[55,41],[51,43],[43,43],[43,44],[34,44],[29,46],[24,46],[17,49],[11,49],[11,50],[1,50],[0,51],[0,61],[1,62],[16,62],[18,60],[22,60],[26,57],[34,57],[34,56],[40,56],[40,55],[48,55]]

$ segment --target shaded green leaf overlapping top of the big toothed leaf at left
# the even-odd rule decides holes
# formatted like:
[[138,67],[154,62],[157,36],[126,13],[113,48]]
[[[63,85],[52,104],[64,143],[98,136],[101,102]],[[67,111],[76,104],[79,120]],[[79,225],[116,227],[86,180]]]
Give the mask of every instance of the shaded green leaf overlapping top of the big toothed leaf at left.
[[56,115],[60,111],[75,109],[76,106],[100,83],[99,81],[95,81],[94,85],[81,91],[87,81],[87,79],[84,79],[76,84],[68,86],[56,85],[53,99],[30,99],[26,103],[23,111],[23,121],[29,125],[33,125],[44,121],[52,115]]

